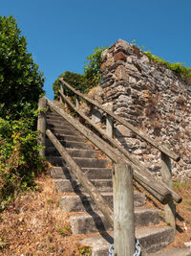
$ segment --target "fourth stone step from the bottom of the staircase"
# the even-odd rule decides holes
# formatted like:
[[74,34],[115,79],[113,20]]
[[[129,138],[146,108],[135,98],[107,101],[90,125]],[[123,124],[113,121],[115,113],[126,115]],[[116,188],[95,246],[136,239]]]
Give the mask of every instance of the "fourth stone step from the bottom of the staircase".
[[[112,179],[91,179],[91,182],[95,185],[99,192],[112,192],[113,182]],[[83,186],[81,186],[76,180],[72,179],[54,179],[53,184],[57,193],[79,193],[85,192]]]

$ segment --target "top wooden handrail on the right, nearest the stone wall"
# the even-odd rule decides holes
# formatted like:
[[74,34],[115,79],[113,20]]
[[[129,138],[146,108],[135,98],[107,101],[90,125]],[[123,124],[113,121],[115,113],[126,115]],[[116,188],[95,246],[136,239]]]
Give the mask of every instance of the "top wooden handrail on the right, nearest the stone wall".
[[112,111],[108,110],[107,108],[103,107],[102,105],[97,104],[96,101],[89,99],[88,97],[86,97],[82,93],[80,93],[79,91],[75,90],[68,82],[64,81],[63,79],[59,79],[59,81],[61,81],[69,89],[71,89],[74,92],[74,94],[80,96],[85,101],[89,102],[90,104],[96,105],[96,107],[98,107],[99,109],[103,110],[104,112],[106,112],[107,114],[109,114],[110,116],[115,118],[120,124],[122,124],[126,128],[129,128],[130,130],[132,130],[139,137],[141,137],[146,142],[150,143],[152,146],[154,146],[159,151],[165,153],[166,155],[168,155],[170,158],[172,158],[176,162],[180,161],[180,155],[178,155],[177,153],[175,153],[173,151],[169,151],[166,147],[159,145],[159,143],[156,142],[154,139],[148,137],[144,132],[140,131],[138,128],[135,128],[130,123],[128,123],[127,121],[125,121],[124,119],[119,117],[117,114],[114,114]]

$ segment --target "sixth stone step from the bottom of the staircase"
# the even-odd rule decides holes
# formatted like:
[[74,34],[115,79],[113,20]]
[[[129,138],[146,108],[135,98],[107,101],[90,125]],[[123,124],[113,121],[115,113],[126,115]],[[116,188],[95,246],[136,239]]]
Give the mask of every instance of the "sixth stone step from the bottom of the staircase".
[[[106,168],[107,160],[106,159],[96,159],[96,158],[87,158],[87,157],[73,157],[74,162],[81,168]],[[53,166],[65,166],[65,162],[61,156],[47,156],[47,160]]]

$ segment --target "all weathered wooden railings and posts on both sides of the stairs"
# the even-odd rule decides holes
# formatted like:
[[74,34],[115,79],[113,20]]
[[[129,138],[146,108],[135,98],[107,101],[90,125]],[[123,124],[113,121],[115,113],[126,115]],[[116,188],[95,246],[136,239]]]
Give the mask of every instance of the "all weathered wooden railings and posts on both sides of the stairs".
[[[77,112],[86,122],[88,122],[101,134],[104,140],[97,136],[89,128],[85,128],[84,126],[82,126],[71,115],[67,114],[63,109],[60,109],[57,105],[54,105],[53,102],[49,101],[48,99],[40,100],[39,108],[46,107],[45,103],[47,103],[55,112],[57,112],[61,117],[67,120],[68,123],[74,126],[74,128],[81,132],[87,139],[93,142],[98,149],[103,151],[115,163],[113,172],[114,212],[107,205],[107,202],[104,200],[104,198],[102,198],[102,196],[97,192],[95,186],[91,183],[87,176],[82,173],[80,168],[74,162],[73,158],[59,143],[51,130],[47,130],[46,134],[53,142],[55,148],[62,155],[67,165],[70,167],[70,171],[77,177],[79,183],[84,187],[85,191],[96,203],[97,207],[100,209],[106,220],[109,221],[110,224],[114,227],[115,253],[120,253],[120,255],[133,255],[135,251],[133,177],[152,196],[157,198],[161,203],[165,204],[165,221],[170,223],[175,231],[176,220],[174,200],[176,202],[180,202],[181,198],[177,193],[172,190],[172,170],[170,158],[175,161],[179,161],[180,156],[175,152],[170,151],[167,147],[159,145],[158,142],[149,138],[142,131],[139,131],[138,128],[133,127],[121,117],[114,114],[111,109],[106,109],[103,106],[98,105],[95,101],[74,90],[74,88],[66,81],[63,81],[62,79],[60,79],[60,81],[62,81],[63,84],[71,89],[76,96],[74,106],[64,95],[64,88],[61,86],[61,90],[59,91],[60,102],[64,100],[67,105],[70,105],[70,107],[72,107],[75,112]],[[96,124],[79,110],[79,97],[81,97],[88,103],[95,105],[107,114],[106,132],[101,128],[97,128]],[[163,183],[157,180],[154,175],[151,175],[148,169],[140,164],[137,159],[132,157],[132,155],[128,151],[125,151],[125,149],[117,143],[117,140],[113,138],[113,120],[117,120],[118,123],[132,130],[140,138],[150,143],[161,152],[161,175]],[[45,124],[46,117],[45,113],[43,113],[42,111],[42,113],[39,114],[38,118],[38,129],[41,130],[39,139],[41,145],[45,145]],[[44,155],[45,151],[41,151],[41,154]],[[120,228],[118,228],[119,226]],[[123,251],[121,251],[121,248],[125,244],[125,242],[127,243],[122,249]]]

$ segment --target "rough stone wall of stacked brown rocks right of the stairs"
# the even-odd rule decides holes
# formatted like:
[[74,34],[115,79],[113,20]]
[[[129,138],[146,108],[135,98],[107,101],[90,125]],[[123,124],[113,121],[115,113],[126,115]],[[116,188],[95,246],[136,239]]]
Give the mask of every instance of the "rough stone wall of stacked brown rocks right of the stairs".
[[[191,177],[191,82],[147,58],[136,46],[118,40],[102,53],[101,104],[170,149],[175,178]],[[160,153],[115,124],[118,141],[152,172],[160,175]]]

